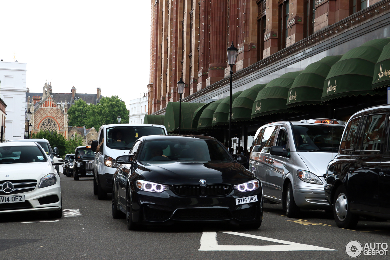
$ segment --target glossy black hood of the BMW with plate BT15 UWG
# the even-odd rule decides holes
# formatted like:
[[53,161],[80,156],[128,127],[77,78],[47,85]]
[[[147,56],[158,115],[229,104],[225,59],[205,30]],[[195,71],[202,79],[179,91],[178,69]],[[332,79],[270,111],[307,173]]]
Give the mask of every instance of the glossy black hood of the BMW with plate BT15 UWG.
[[163,184],[209,183],[238,184],[254,179],[252,173],[239,163],[194,163],[194,162],[142,162],[137,172],[146,180]]

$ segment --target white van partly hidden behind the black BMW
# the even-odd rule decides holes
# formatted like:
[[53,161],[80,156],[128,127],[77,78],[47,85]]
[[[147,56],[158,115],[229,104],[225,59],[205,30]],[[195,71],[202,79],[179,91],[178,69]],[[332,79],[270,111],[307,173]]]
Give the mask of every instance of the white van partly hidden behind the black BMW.
[[[115,159],[128,154],[138,138],[154,134],[167,134],[167,129],[155,124],[112,124],[99,128],[97,141],[92,141],[91,144],[91,149],[95,152],[94,195],[99,200],[106,199],[107,193],[112,192],[112,176],[119,166]],[[100,147],[97,151],[98,145]]]

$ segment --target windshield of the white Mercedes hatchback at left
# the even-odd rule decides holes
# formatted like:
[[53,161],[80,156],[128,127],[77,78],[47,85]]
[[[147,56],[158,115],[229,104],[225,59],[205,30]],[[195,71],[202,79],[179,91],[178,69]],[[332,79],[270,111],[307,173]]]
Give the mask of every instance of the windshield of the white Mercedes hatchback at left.
[[37,146],[0,147],[0,164],[39,163],[47,161],[47,156]]

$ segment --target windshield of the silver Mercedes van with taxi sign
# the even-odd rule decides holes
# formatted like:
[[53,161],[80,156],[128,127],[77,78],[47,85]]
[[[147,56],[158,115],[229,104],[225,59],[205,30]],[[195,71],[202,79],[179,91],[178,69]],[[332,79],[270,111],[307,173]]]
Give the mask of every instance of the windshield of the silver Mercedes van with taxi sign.
[[343,131],[344,126],[333,126],[333,130],[332,125],[293,126],[296,150],[298,152],[337,152]]

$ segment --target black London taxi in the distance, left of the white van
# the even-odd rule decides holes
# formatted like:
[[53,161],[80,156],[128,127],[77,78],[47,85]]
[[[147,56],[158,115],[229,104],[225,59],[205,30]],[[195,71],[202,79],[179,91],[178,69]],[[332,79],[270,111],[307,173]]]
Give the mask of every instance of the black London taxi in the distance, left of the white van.
[[80,177],[94,177],[94,152],[91,146],[78,146],[74,150],[73,177],[78,180]]

